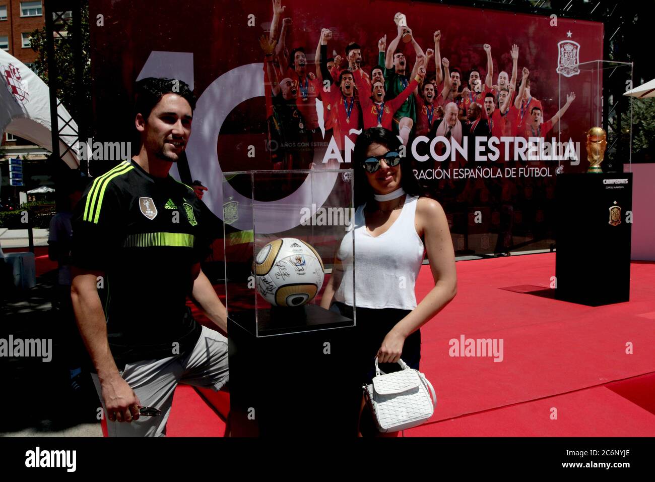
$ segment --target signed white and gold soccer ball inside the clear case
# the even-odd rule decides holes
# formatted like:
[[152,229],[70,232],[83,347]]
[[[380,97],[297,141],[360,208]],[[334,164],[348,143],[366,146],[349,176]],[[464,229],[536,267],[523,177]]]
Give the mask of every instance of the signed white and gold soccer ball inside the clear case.
[[257,290],[273,306],[303,306],[323,286],[325,268],[308,243],[283,237],[259,250],[253,274]]

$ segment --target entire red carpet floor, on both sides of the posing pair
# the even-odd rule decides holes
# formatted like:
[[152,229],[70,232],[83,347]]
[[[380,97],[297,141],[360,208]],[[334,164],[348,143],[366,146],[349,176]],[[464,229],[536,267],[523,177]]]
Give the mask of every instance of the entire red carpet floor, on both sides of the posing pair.
[[[422,328],[438,407],[405,436],[655,435],[655,263],[631,265],[630,302],[596,308],[552,298],[553,253],[458,262],[457,273],[457,297]],[[417,299],[433,286],[423,266]],[[502,339],[502,361],[449,356],[462,334]],[[222,435],[196,392],[178,392],[170,435]]]

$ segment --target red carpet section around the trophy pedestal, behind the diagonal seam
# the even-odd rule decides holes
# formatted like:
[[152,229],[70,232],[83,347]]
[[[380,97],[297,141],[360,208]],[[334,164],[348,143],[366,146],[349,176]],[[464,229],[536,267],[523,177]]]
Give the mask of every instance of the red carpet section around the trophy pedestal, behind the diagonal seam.
[[[432,287],[427,268],[419,299]],[[632,265],[629,303],[596,308],[501,289],[548,289],[555,254],[458,262],[457,272],[457,297],[422,329],[421,369],[439,396],[433,420],[655,371],[654,322],[640,316],[655,311],[655,264]],[[450,357],[449,340],[460,334],[502,338],[503,361]]]

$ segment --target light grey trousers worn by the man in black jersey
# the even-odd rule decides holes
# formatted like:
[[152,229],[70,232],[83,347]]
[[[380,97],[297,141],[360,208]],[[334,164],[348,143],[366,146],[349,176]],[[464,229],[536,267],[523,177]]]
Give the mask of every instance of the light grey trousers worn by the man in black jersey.
[[221,390],[229,379],[227,367],[227,338],[217,331],[202,327],[196,346],[186,355],[159,360],[128,363],[121,372],[143,407],[160,409],[159,416],[140,416],[139,420],[112,422],[102,400],[98,375],[93,382],[102,403],[109,437],[164,437],[166,422],[173,405],[173,393],[178,383]]

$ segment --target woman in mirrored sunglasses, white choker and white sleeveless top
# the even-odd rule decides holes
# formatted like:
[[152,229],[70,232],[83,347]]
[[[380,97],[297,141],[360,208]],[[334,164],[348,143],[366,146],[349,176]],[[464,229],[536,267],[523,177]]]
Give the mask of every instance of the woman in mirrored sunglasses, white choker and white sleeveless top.
[[[455,252],[445,213],[437,201],[419,195],[411,162],[400,156],[400,146],[400,140],[381,127],[358,136],[353,165],[354,230],[341,243],[321,301],[323,308],[343,315],[352,314],[356,306],[362,383],[371,382],[376,356],[379,363],[393,364],[381,365],[387,373],[400,369],[396,363],[400,358],[419,369],[419,328],[457,293]],[[435,284],[417,304],[414,288],[424,252]]]

